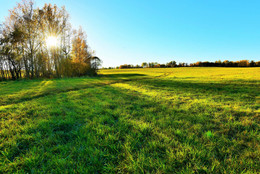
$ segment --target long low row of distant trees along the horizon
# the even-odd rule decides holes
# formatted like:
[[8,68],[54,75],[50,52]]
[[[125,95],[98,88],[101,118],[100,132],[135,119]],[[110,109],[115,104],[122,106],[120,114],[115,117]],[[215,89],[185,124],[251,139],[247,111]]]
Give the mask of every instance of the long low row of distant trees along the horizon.
[[[173,67],[260,67],[260,61],[248,61],[248,60],[240,60],[240,61],[228,61],[225,60],[223,62],[215,61],[215,62],[196,62],[196,63],[176,63],[176,61],[170,61],[166,64],[159,64],[157,62],[143,62],[141,65],[120,65],[117,69],[126,69],[126,68],[173,68]],[[112,67],[110,67],[112,69]]]

